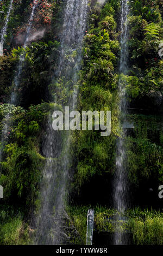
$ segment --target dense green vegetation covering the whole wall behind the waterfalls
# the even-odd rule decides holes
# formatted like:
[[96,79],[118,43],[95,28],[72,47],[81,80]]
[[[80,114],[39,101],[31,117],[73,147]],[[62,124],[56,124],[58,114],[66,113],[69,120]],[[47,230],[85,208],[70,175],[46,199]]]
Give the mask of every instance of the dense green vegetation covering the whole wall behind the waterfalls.
[[[0,4],[0,27],[9,7]],[[54,72],[59,58],[60,32],[64,1],[42,0],[32,28],[31,43],[23,48],[24,31],[32,1],[15,0],[8,23],[3,56],[0,56],[0,131],[10,111],[9,132],[1,159],[0,244],[29,244],[33,230],[30,218],[39,204],[39,184],[45,164],[42,139],[49,113],[66,101],[64,78],[56,82]],[[96,231],[114,232],[105,220],[114,215],[111,207],[111,181],[115,171],[116,141],[120,135],[117,81],[120,61],[120,0],[102,6],[90,1],[84,37],[82,68],[79,72],[78,110],[111,110],[111,135],[100,136],[93,130],[74,131],[71,141],[72,183],[67,213],[76,230],[71,243],[85,243],[86,213],[95,208]],[[136,245],[162,245],[162,201],[158,187],[163,184],[163,67],[159,44],[163,37],[161,0],[130,1],[129,71],[126,76],[128,120],[133,128],[126,138],[128,177],[131,184],[131,210],[123,227],[133,234]],[[10,105],[19,57],[25,52],[18,104]],[[76,52],[67,56],[71,65]],[[52,80],[53,78],[53,80]],[[53,81],[53,82],[52,82]],[[149,188],[153,188],[153,194]],[[95,198],[98,190],[98,198]],[[95,194],[94,194],[95,193]],[[141,199],[140,199],[141,195]],[[162,199],[163,200],[163,199]],[[97,203],[102,206],[97,206]],[[134,207],[140,206],[140,208]],[[155,209],[151,210],[151,207]],[[70,234],[71,235],[71,234]]]

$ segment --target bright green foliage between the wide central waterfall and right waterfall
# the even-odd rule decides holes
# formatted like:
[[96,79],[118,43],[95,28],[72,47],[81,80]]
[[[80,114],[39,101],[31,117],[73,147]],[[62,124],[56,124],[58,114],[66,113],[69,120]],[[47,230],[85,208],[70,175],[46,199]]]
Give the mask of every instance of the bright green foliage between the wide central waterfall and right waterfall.
[[[115,5],[117,6],[115,7]],[[84,41],[83,69],[80,72],[78,109],[111,110],[112,133],[117,130],[116,75],[120,44],[116,40],[115,8],[120,1],[108,2],[98,16],[98,26],[90,29]],[[95,16],[93,16],[95,19]],[[97,17],[96,17],[97,19]],[[115,40],[111,40],[114,38]],[[95,175],[103,175],[114,169],[115,136],[102,138],[97,131],[77,131],[74,139],[74,152],[78,163],[74,166],[73,188],[80,189],[84,182]]]

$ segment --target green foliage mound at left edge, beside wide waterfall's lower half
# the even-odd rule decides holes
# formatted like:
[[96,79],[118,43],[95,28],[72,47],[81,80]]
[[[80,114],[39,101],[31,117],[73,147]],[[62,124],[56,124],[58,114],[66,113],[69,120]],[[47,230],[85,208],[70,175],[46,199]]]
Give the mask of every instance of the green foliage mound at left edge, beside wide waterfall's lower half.
[[34,204],[45,160],[39,152],[39,135],[43,120],[52,109],[53,104],[47,103],[30,106],[28,111],[20,106],[1,105],[1,115],[6,115],[10,110],[12,120],[10,143],[5,145],[4,160],[1,162],[0,181],[6,200],[16,194],[20,200],[23,199],[22,204]]

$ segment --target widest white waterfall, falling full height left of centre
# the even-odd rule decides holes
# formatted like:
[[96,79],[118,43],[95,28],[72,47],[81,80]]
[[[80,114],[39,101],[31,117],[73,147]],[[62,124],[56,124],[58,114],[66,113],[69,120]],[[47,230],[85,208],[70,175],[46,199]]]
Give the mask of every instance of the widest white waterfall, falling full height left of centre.
[[[82,59],[82,44],[86,29],[88,0],[68,0],[65,3],[64,22],[60,35],[60,57],[58,69],[54,76],[59,81],[63,78],[67,89],[67,100],[64,106],[76,107],[77,79]],[[67,62],[66,56],[77,51],[73,64]],[[67,85],[68,84],[68,85]],[[73,91],[71,94],[70,92]],[[70,96],[69,96],[70,94]],[[54,102],[57,104],[57,97]],[[36,234],[34,243],[37,245],[61,245],[68,239],[64,224],[66,218],[67,184],[70,181],[68,166],[70,159],[71,132],[54,131],[52,116],[48,118],[46,137],[43,143],[43,155],[46,165],[40,188],[40,211],[36,216]]]

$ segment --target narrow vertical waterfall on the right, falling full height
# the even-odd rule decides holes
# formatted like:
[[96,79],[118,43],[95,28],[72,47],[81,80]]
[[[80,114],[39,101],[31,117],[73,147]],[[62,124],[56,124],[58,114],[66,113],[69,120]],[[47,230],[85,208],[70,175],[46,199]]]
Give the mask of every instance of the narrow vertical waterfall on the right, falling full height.
[[[119,111],[121,117],[125,118],[127,112],[127,101],[126,101],[126,91],[125,82],[121,79],[121,74],[126,75],[128,70],[127,59],[128,59],[128,26],[127,26],[127,16],[129,14],[128,0],[122,0],[121,3],[121,57],[120,57],[120,79],[118,80],[120,105]],[[123,124],[121,121],[121,128]],[[126,168],[126,145],[125,145],[125,132],[121,132],[121,138],[117,141],[117,151],[116,151],[116,171],[114,176],[114,207],[122,214],[128,207],[128,184],[127,184],[127,168]],[[116,220],[115,220],[116,221]],[[118,224],[117,224],[118,225]],[[118,229],[118,227],[117,227]],[[116,231],[115,233],[115,245],[124,244],[123,234],[121,231]]]

